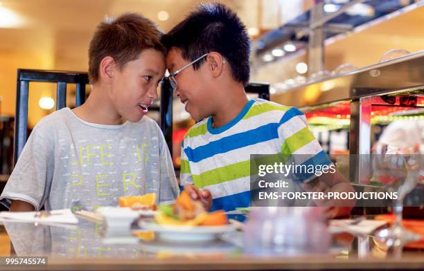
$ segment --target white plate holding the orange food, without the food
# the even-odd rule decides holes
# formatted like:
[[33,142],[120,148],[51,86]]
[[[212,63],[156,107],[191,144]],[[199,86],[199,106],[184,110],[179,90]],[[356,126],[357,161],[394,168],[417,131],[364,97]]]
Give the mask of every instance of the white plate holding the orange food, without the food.
[[218,239],[220,234],[233,232],[233,225],[224,226],[171,226],[159,225],[157,223],[140,221],[143,230],[156,232],[159,239],[171,242],[202,242]]

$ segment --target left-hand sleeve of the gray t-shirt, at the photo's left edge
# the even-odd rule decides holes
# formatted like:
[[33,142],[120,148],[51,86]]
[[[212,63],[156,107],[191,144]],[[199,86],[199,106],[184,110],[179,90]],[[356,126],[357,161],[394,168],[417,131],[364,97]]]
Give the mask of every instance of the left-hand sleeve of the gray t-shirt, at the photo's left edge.
[[30,203],[39,210],[48,198],[54,169],[54,132],[46,122],[35,126],[0,196],[10,208],[11,200]]

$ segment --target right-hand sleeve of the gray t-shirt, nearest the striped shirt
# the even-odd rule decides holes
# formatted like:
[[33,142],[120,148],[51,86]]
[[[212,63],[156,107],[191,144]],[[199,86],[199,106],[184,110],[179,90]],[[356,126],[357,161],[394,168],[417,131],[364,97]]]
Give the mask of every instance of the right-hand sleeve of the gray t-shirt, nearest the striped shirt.
[[168,145],[166,144],[164,134],[158,128],[159,137],[159,160],[161,161],[161,187],[159,191],[159,203],[165,203],[175,200],[179,195],[177,178],[175,177],[173,159],[170,156]]

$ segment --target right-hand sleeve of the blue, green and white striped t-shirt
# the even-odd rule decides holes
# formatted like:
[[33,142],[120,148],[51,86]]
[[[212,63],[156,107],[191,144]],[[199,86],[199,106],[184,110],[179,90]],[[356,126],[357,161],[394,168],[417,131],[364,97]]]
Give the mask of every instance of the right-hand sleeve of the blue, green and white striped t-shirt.
[[318,169],[332,162],[308,128],[305,115],[292,107],[284,113],[279,122],[280,151],[286,163],[297,165],[294,179],[306,183],[317,175],[312,167]]

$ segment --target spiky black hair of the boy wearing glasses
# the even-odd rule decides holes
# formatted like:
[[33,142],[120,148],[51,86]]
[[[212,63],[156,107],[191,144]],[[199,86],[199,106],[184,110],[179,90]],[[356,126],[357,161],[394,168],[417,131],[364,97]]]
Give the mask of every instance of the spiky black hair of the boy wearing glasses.
[[[162,38],[167,50],[176,47],[193,61],[211,51],[220,53],[231,66],[234,80],[249,82],[250,39],[236,12],[220,3],[203,3]],[[193,65],[196,70],[205,59]]]

